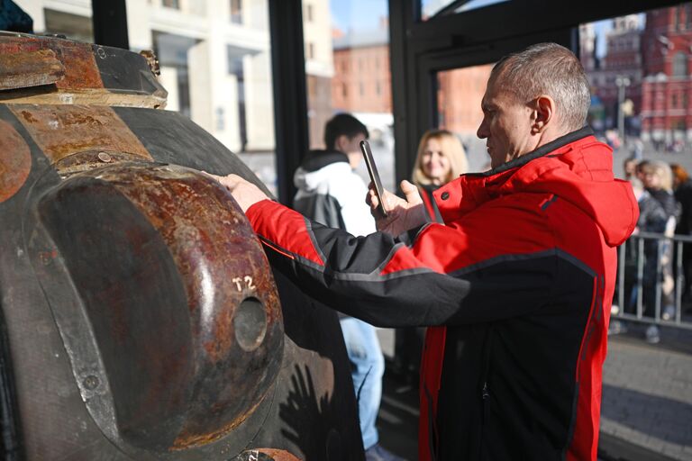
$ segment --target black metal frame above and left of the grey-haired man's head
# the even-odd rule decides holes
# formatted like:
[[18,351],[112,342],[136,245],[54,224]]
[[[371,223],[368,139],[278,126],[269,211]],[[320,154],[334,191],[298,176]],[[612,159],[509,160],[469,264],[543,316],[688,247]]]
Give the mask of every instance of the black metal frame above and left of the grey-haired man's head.
[[531,43],[578,52],[581,23],[678,5],[669,0],[545,2],[511,0],[421,21],[421,1],[389,2],[390,66],[397,182],[410,176],[423,132],[437,125],[440,70],[494,62]]

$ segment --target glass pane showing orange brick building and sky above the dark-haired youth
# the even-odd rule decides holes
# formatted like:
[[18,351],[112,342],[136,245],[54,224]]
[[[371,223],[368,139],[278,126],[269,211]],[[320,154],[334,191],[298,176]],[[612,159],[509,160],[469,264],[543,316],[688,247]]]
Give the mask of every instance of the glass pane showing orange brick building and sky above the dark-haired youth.
[[[387,0],[304,0],[303,7],[310,147],[324,148],[332,115],[352,113],[368,127],[383,185],[394,190]],[[369,182],[364,165],[357,171]]]

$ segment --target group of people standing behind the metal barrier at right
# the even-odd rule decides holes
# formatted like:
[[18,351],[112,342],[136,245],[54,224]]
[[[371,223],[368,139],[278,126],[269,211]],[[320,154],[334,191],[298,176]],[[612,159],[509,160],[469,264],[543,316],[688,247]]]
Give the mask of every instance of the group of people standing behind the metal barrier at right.
[[[684,167],[662,161],[627,158],[623,168],[639,204],[640,215],[634,235],[645,233],[656,236],[650,235],[644,239],[642,255],[638,252],[636,238],[625,245],[624,305],[620,307],[625,313],[634,313],[637,297],[642,296],[643,315],[654,317],[659,298],[660,318],[669,321],[676,313],[677,280],[674,270],[677,254],[669,238],[692,233],[692,180]],[[639,258],[644,259],[641,294],[636,286]],[[682,299],[688,301],[692,282],[692,246],[687,243],[683,245],[681,267]],[[622,321],[611,322],[611,333],[624,330],[626,327]],[[658,343],[659,327],[655,324],[649,326],[645,337],[651,343]]]

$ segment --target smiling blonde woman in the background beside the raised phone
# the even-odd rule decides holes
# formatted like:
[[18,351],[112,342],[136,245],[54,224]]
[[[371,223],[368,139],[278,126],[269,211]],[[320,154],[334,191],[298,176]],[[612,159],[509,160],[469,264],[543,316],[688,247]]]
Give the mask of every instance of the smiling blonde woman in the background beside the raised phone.
[[425,209],[435,221],[442,221],[432,192],[469,171],[469,160],[460,140],[446,130],[426,131],[418,144],[412,182],[418,186]]

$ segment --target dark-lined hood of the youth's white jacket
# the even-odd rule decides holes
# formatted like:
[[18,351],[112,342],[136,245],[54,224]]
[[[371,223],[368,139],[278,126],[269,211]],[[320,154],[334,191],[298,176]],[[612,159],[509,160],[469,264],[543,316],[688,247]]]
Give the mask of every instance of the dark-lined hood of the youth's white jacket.
[[[349,158],[338,150],[311,150],[296,169],[293,183],[298,190],[312,192],[334,176],[351,172]],[[338,179],[338,177],[337,177]]]

